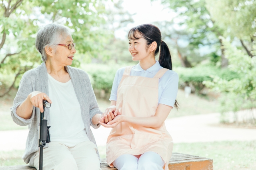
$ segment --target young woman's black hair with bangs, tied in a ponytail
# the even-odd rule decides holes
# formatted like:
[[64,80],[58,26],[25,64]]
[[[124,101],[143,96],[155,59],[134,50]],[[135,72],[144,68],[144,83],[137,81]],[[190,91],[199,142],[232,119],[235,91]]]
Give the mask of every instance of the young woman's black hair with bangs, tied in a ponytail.
[[[160,54],[158,62],[160,66],[172,70],[172,57],[170,50],[166,43],[162,41],[162,35],[160,29],[152,24],[138,25],[130,29],[128,33],[128,39],[139,39],[140,35],[147,41],[147,46],[149,47],[154,41],[156,41],[157,47],[154,51],[154,56],[158,55],[159,47]],[[175,100],[174,107],[178,109],[178,102]]]

